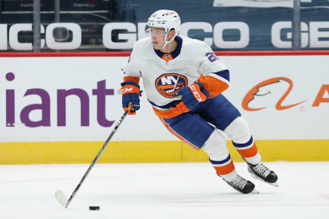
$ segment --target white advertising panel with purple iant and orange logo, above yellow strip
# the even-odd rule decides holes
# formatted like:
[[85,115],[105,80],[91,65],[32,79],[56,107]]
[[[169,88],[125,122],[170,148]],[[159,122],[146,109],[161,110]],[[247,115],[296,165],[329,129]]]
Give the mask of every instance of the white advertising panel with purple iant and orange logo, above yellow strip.
[[[327,55],[219,57],[230,69],[224,95],[257,140],[329,138]],[[128,57],[0,57],[0,142],[102,141],[123,114]],[[141,86],[143,90],[143,85]],[[112,140],[177,140],[147,97]]]

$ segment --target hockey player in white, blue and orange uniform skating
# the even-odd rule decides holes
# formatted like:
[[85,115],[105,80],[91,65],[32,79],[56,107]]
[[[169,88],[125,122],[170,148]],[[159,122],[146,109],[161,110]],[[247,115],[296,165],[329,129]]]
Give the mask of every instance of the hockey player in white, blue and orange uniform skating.
[[[247,123],[221,92],[230,84],[228,68],[200,40],[179,36],[180,16],[172,10],[151,14],[145,28],[149,37],[134,44],[123,66],[122,105],[140,108],[139,80],[155,114],[173,135],[199,151],[203,148],[217,175],[235,190],[249,193],[254,183],[237,174],[224,131],[247,162],[253,177],[278,186],[277,175],[261,162]],[[210,124],[212,125],[210,125]]]

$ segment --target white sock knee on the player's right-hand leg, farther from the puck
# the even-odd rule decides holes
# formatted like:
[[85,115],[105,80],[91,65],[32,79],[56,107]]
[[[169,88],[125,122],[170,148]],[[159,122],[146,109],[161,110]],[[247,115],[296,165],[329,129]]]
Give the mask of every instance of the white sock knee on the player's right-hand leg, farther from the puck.
[[243,144],[250,140],[252,133],[249,131],[249,126],[244,118],[237,117],[228,125],[224,132],[232,139],[233,142]]

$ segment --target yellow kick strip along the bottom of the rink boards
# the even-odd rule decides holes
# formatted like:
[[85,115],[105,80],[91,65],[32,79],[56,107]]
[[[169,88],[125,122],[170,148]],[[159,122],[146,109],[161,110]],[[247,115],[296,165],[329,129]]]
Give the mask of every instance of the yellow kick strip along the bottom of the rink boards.
[[[227,142],[234,162],[243,159]],[[328,161],[329,140],[258,140],[263,162]],[[3,142],[0,164],[91,163],[103,142]],[[208,155],[180,141],[110,142],[99,163],[208,162]]]

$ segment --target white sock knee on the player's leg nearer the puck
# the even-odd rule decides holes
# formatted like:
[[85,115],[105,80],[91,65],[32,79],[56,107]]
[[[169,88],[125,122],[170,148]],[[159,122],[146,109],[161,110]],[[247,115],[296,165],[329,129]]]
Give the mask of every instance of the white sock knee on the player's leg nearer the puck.
[[204,143],[203,149],[208,154],[209,158],[215,161],[226,159],[229,155],[226,140],[216,129]]

